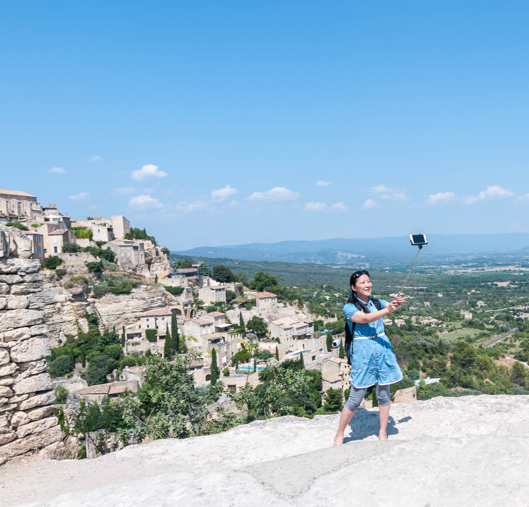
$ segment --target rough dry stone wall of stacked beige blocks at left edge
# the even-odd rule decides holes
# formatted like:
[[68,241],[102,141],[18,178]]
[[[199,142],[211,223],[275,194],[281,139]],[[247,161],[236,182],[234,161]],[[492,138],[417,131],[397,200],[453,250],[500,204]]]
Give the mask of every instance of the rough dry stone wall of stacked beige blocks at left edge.
[[19,229],[0,225],[0,461],[61,439],[40,298],[40,262]]

